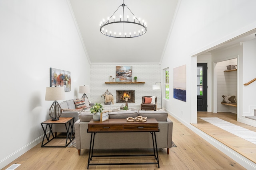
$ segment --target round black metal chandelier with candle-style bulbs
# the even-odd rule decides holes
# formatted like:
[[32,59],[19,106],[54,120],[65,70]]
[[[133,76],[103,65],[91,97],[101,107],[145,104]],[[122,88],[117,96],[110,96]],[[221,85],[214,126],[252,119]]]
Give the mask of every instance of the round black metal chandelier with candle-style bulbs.
[[[144,35],[144,34],[146,33],[146,31],[147,31],[146,22],[144,22],[144,20],[143,20],[142,23],[140,23],[140,19],[136,18],[136,16],[132,13],[132,11],[131,11],[129,8],[128,8],[128,10],[129,10],[129,11],[132,13],[132,15],[133,15],[133,21],[129,21],[129,18],[127,18],[127,21],[124,21],[124,7],[125,7],[125,6],[128,8],[128,6],[124,4],[124,0],[123,0],[123,4],[121,4],[121,5],[117,8],[117,10],[118,10],[119,8],[123,8],[123,9],[122,9],[123,14],[122,14],[122,18],[120,17],[120,21],[119,21],[119,20],[118,20],[118,21],[115,21],[115,18],[113,17],[117,10],[114,12],[114,14],[112,14],[112,16],[111,16],[110,18],[108,18],[108,20],[106,21],[106,23],[105,23],[105,20],[103,19],[103,24],[102,24],[102,22],[100,23],[100,32],[101,32],[103,35],[106,35],[106,36],[108,36],[108,37],[114,37],[114,38],[134,38],[134,37],[139,37],[139,36],[141,36],[141,35]],[[112,17],[113,17],[113,21],[110,22],[110,19],[111,19]],[[111,31],[108,33],[107,30],[104,30],[104,27],[105,27],[106,25],[116,24],[116,23],[122,23],[122,33],[119,32],[119,35],[116,35],[116,33],[113,33],[113,34],[112,34]],[[124,24],[126,24],[126,23],[137,24],[137,25],[141,26],[141,28],[142,28],[141,31],[142,31],[142,32],[140,32],[140,30],[139,30],[138,32],[134,32],[134,33],[131,33],[131,32],[130,32],[129,35],[126,35],[126,33],[124,33]],[[112,35],[111,35],[111,34],[112,34]],[[136,34],[137,34],[137,35],[136,35]]]

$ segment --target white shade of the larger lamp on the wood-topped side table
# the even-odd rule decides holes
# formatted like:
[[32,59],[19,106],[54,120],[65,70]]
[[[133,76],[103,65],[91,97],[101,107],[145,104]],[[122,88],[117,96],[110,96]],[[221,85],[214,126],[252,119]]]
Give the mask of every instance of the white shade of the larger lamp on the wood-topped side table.
[[65,100],[64,87],[46,87],[45,100]]

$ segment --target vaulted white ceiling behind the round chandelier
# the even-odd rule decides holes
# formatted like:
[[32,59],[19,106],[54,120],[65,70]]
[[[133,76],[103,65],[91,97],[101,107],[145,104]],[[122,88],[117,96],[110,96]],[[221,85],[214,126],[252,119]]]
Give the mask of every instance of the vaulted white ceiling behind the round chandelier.
[[[133,14],[147,22],[135,38],[112,38],[100,32],[123,0],[70,0],[91,63],[159,63],[178,0],[124,0]],[[118,17],[118,16],[116,16]]]

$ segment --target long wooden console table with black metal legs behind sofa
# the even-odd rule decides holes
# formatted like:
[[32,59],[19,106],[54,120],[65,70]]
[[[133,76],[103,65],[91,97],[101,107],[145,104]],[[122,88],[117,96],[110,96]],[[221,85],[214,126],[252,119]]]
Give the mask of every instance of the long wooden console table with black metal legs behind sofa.
[[[156,132],[159,132],[158,122],[156,119],[147,119],[146,122],[128,122],[126,119],[108,119],[107,121],[99,122],[93,121],[88,123],[88,133],[91,133],[90,149],[88,155],[88,165],[138,165],[138,164],[158,164],[158,150],[156,144]],[[149,132],[152,135],[154,154],[133,154],[133,155],[94,155],[94,139],[96,133],[109,133],[109,132]],[[117,136],[118,139],[118,136]],[[118,141],[118,140],[117,140]],[[142,141],[143,142],[143,141]],[[154,156],[156,162],[145,163],[90,163],[93,157],[127,157],[127,156]]]

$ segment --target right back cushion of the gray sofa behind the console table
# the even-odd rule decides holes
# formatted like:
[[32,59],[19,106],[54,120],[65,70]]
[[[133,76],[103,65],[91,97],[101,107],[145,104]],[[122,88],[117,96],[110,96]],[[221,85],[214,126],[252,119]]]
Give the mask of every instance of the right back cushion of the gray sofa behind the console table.
[[168,113],[166,111],[139,111],[139,116],[155,118],[156,121],[167,121]]

